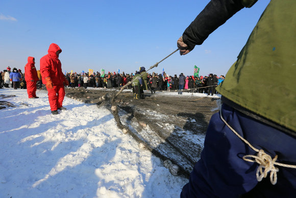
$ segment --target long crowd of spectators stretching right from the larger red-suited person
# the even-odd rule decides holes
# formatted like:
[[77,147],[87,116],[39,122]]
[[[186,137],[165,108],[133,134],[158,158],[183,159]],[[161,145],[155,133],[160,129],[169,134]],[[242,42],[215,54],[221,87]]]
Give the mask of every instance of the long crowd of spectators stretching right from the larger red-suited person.
[[[144,70],[144,67],[141,67]],[[125,74],[122,73],[115,73],[115,72],[108,72],[107,74],[101,76],[99,72],[88,74],[88,73],[72,73],[66,74],[66,79],[70,82],[70,87],[103,87],[103,88],[114,88],[114,87],[121,87],[126,85],[129,81],[132,81],[133,78],[136,76],[136,73],[142,73],[141,70],[136,71],[135,73]],[[144,86],[146,90],[150,90],[151,93],[155,93],[155,91],[170,91],[170,90],[182,90],[182,89],[196,89],[195,92],[198,93],[207,93],[207,94],[214,94],[215,90],[212,89],[212,85],[217,85],[221,81],[224,80],[224,76],[221,75],[219,78],[217,75],[209,74],[209,76],[184,76],[183,73],[177,76],[177,74],[173,76],[169,76],[166,73],[157,74],[147,73],[146,76],[142,77],[141,79],[146,82]],[[182,86],[183,85],[183,86]],[[128,86],[132,88],[132,84]],[[204,88],[205,87],[205,88]],[[211,89],[208,89],[211,88]],[[182,93],[181,93],[182,94]]]

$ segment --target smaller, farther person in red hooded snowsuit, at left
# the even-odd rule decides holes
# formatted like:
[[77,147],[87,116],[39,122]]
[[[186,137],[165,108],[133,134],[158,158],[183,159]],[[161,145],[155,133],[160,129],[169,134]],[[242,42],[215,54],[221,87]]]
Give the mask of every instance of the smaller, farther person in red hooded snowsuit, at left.
[[37,70],[35,68],[34,57],[28,57],[28,63],[26,64],[26,66],[24,66],[24,79],[27,83],[28,97],[32,99],[39,98],[36,96],[36,83],[39,80],[39,78],[37,75]]

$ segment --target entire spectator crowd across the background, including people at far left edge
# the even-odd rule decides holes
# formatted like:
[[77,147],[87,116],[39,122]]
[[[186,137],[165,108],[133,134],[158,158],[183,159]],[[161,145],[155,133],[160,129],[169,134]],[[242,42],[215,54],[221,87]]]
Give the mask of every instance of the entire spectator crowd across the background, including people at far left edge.
[[[144,67],[141,67],[145,70]],[[141,72],[141,69],[139,72]],[[68,80],[68,87],[103,87],[103,88],[114,88],[126,85],[129,81],[132,81],[137,71],[131,74],[108,72],[101,76],[100,72],[89,73],[77,73],[72,74],[66,73],[65,78]],[[37,70],[38,79],[36,79],[37,89],[41,89],[42,81],[40,70]],[[14,89],[27,89],[27,82],[24,73],[20,69],[13,68],[11,71],[10,67],[1,72],[1,83],[0,89],[4,87],[13,87]],[[194,89],[192,92],[205,93],[213,95],[216,93],[213,85],[218,85],[224,80],[224,75],[217,77],[216,74],[209,74],[208,76],[185,76],[181,73],[179,76],[169,76],[165,72],[162,74],[147,73],[146,76],[141,79],[146,82],[146,86],[143,90],[150,90],[151,93],[156,91],[171,91],[171,90],[187,90]],[[128,85],[131,89],[132,84]],[[197,88],[197,89],[195,89]],[[180,91],[179,94],[182,94]]]

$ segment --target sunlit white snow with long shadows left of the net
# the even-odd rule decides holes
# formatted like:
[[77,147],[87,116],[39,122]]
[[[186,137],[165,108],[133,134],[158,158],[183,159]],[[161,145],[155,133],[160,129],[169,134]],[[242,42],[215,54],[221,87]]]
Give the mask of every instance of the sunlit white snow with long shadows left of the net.
[[12,88],[0,95],[16,95],[0,98],[16,105],[0,109],[1,198],[179,197],[188,182],[124,135],[107,109],[65,97],[67,110],[52,115],[44,90],[38,99]]

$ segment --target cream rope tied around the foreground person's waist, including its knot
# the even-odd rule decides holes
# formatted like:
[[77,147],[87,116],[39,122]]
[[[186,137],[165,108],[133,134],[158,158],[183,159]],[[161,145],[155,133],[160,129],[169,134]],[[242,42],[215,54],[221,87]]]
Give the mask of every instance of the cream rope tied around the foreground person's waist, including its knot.
[[270,183],[275,185],[277,183],[277,172],[279,171],[279,168],[275,167],[275,165],[286,167],[286,168],[296,168],[296,165],[289,165],[289,164],[283,164],[283,163],[276,162],[278,159],[277,155],[275,156],[274,159],[272,159],[272,157],[270,157],[267,153],[265,153],[263,149],[255,148],[254,146],[252,146],[250,144],[250,142],[248,142],[244,138],[242,138],[223,118],[221,106],[220,106],[220,118],[228,126],[228,128],[230,128],[233,131],[233,133],[237,137],[239,137],[245,144],[248,144],[248,146],[250,146],[253,150],[258,152],[257,156],[245,155],[242,157],[242,159],[245,161],[256,162],[259,164],[259,167],[257,168],[257,171],[256,171],[256,178],[257,178],[258,182],[262,181],[263,178],[266,178],[268,172],[270,171]]

